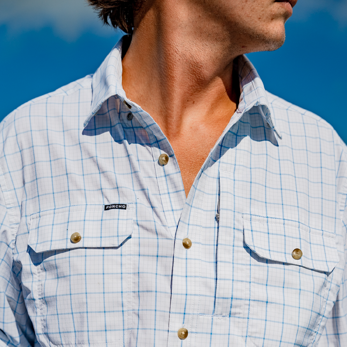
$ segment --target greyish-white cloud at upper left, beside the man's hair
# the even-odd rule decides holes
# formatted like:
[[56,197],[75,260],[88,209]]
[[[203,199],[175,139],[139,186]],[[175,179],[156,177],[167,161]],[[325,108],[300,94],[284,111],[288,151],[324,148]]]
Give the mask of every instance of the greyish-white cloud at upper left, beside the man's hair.
[[52,27],[57,36],[74,41],[86,31],[114,35],[85,0],[0,0],[0,25],[11,34]]

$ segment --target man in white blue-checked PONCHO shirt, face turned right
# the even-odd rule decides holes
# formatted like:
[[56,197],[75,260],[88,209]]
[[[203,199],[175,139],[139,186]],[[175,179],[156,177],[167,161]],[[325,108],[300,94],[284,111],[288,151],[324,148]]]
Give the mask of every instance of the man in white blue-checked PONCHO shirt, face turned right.
[[1,124],[1,345],[347,346],[346,145],[243,56],[296,0],[90,3],[133,34]]

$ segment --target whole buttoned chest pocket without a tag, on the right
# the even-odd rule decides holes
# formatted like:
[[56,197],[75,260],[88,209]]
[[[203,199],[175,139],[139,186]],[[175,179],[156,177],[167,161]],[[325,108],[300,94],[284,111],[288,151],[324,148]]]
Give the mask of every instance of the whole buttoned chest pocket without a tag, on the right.
[[[288,345],[311,345],[332,307],[327,301],[339,262],[335,234],[284,219],[250,214],[242,219],[244,249],[249,254],[248,336],[254,344],[260,337],[276,341],[273,336],[285,329]],[[300,258],[292,256],[294,249],[300,249]]]

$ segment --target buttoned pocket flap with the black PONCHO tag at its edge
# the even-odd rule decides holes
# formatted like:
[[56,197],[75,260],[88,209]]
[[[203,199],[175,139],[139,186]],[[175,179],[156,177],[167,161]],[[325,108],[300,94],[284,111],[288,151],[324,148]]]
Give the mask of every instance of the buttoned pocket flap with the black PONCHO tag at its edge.
[[[118,247],[133,231],[134,204],[104,211],[104,205],[75,205],[31,215],[28,245],[36,252],[84,247]],[[81,240],[70,239],[75,232]]]

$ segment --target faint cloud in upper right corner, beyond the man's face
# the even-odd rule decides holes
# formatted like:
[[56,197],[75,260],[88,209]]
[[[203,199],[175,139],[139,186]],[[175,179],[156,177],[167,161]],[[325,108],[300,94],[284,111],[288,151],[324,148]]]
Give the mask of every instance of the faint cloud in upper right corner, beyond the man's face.
[[347,0],[299,0],[293,18],[305,20],[315,12],[329,13],[340,25],[347,25]]

